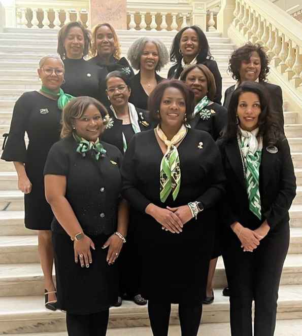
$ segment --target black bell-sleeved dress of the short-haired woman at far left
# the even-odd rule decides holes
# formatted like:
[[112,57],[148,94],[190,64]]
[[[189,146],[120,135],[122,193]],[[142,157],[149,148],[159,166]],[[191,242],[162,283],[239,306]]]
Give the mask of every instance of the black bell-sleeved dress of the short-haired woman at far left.
[[[24,93],[14,106],[10,133],[2,159],[23,162],[32,183],[24,195],[25,227],[32,230],[50,230],[53,213],[45,200],[43,169],[48,151],[60,138],[61,111],[57,101],[37,91]],[[28,135],[26,150],[24,135]]]

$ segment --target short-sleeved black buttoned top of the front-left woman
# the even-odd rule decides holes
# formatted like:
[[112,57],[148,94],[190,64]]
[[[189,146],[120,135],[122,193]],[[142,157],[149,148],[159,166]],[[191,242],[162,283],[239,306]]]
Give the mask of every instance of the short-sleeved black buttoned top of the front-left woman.
[[[50,149],[44,175],[66,176],[65,197],[73,208],[84,232],[112,234],[117,227],[117,207],[122,180],[122,154],[115,146],[101,141],[107,153],[95,160],[76,152],[77,142],[70,136]],[[64,233],[54,217],[52,231]]]

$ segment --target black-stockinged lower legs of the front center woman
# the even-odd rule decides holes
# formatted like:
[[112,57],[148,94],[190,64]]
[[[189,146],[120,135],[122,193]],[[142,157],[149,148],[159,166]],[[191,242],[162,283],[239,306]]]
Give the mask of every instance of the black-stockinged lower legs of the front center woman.
[[[169,329],[171,303],[148,301],[148,313],[153,336],[167,336]],[[196,336],[202,319],[201,303],[180,303],[178,314],[182,336]]]

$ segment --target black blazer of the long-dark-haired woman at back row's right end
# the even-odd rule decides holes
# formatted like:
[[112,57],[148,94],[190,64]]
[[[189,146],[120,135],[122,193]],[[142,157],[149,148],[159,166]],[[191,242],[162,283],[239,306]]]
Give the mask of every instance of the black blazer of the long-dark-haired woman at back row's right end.
[[[222,98],[222,77],[217,65],[217,62],[213,59],[206,59],[202,64],[206,65],[211,72],[213,73],[213,76],[215,78],[215,84],[216,84],[216,94],[214,97],[214,102],[221,105],[221,98]],[[171,66],[171,68],[168,71],[168,78],[169,79],[179,79],[180,74],[183,71],[183,67],[181,66],[181,63],[174,64]]]

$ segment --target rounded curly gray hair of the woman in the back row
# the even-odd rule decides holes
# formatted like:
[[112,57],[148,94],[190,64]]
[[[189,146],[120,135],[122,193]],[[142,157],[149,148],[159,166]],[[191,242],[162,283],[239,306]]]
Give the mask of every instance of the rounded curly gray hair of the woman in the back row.
[[164,67],[167,62],[169,62],[169,54],[167,52],[166,46],[157,39],[150,38],[140,38],[132,43],[130,46],[127,58],[131,63],[131,66],[136,70],[140,69],[141,56],[143,54],[143,50],[147,42],[155,44],[158,50],[158,63],[156,65],[155,71],[160,71],[162,67]]

